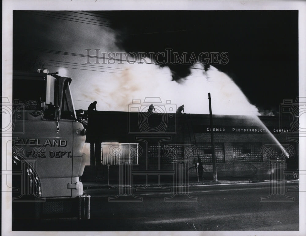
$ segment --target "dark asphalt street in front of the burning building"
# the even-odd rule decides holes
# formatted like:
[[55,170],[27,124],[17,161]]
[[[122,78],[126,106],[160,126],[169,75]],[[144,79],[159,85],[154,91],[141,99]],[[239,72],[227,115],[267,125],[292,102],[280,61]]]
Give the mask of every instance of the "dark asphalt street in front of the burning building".
[[298,183],[257,182],[87,189],[91,218],[46,220],[37,230],[299,230]]

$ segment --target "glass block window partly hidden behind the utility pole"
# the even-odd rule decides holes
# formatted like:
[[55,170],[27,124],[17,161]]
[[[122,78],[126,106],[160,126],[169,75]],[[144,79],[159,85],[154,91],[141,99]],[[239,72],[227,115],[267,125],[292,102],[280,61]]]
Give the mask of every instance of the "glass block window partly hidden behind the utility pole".
[[[203,164],[212,163],[211,143],[198,143],[198,154]],[[225,162],[224,143],[215,143],[216,162]]]

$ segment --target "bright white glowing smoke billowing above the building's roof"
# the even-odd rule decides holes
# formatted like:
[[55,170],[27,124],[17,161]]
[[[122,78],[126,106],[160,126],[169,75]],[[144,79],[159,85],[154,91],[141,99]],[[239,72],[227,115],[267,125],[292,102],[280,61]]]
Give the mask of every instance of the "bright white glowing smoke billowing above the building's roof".
[[[81,93],[80,100],[96,100],[98,110],[128,111],[132,99],[143,102],[146,97],[159,97],[164,103],[171,100],[177,107],[184,104],[186,113],[208,114],[210,92],[213,114],[259,115],[233,80],[212,66],[207,72],[192,69],[182,83],[171,81],[168,67],[138,63],[121,67],[124,70],[119,74],[99,77],[98,73],[87,79],[85,90],[90,92]],[[202,68],[199,64],[194,67]]]

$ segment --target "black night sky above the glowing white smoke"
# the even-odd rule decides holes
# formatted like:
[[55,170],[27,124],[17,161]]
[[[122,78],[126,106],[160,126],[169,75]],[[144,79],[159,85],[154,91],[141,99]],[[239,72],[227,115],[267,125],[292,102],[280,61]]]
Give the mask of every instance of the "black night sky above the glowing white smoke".
[[[116,46],[126,52],[156,53],[166,48],[179,54],[188,52],[188,55],[228,52],[228,64],[213,66],[227,73],[259,110],[278,111],[283,99],[298,96],[298,10],[100,11],[91,14],[109,21],[108,29],[115,32]],[[50,20],[54,19],[35,20],[33,17],[40,16],[14,13],[14,69],[21,69],[21,61],[29,57],[30,47],[60,47],[61,40],[55,45],[50,41],[50,34],[49,38],[39,36],[43,40],[36,36],[38,32],[52,30]],[[57,37],[57,33],[52,36]],[[70,37],[69,32],[67,37]],[[192,67],[161,66],[168,66],[173,80],[178,82]]]

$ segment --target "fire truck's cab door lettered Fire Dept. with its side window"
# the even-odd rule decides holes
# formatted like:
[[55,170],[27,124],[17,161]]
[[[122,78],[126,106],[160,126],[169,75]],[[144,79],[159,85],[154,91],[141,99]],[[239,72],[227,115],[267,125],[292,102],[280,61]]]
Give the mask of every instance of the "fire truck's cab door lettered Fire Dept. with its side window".
[[[31,160],[41,183],[42,197],[73,197],[73,122],[76,120],[70,78],[54,80],[54,102],[46,104],[45,73],[14,73],[13,152]],[[15,112],[15,113],[16,113]],[[18,114],[19,114],[18,113]],[[16,113],[17,114],[17,113]]]

